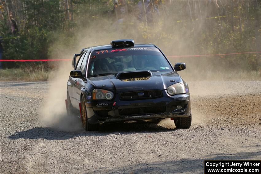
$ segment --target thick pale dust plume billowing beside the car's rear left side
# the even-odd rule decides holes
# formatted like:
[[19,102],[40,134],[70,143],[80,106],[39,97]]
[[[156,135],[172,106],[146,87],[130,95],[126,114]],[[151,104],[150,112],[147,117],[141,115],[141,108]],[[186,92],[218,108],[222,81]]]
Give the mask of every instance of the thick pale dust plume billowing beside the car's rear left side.
[[80,131],[80,119],[73,115],[67,115],[65,107],[66,80],[70,67],[67,62],[53,71],[49,79],[49,90],[45,96],[44,106],[41,108],[41,120],[48,127],[61,131]]

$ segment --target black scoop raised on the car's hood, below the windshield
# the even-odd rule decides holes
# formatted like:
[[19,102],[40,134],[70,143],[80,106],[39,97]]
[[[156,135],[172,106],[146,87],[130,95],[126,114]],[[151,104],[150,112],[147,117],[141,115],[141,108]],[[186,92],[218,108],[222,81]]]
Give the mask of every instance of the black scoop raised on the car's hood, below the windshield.
[[150,70],[148,71],[129,71],[129,72],[118,72],[115,74],[117,79],[128,79],[128,78],[135,78],[135,77],[148,77],[152,76]]

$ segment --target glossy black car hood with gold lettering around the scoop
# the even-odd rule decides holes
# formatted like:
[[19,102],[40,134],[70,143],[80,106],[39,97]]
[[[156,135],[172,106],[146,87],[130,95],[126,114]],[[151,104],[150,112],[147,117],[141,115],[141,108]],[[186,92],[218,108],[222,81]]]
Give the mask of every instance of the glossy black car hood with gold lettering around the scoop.
[[96,88],[107,89],[118,94],[130,91],[165,90],[168,86],[182,80],[177,72],[152,72],[150,77],[128,79],[117,79],[115,75],[91,77],[88,79],[92,81]]

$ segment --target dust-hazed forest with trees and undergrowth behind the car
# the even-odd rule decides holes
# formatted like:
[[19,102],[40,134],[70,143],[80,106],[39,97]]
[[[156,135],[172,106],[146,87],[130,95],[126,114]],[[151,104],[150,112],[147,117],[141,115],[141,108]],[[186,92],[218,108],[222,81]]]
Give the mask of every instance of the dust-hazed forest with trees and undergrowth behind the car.
[[[71,59],[126,38],[158,45],[188,74],[260,79],[260,23],[260,0],[0,0],[5,60]],[[184,56],[242,52],[255,53]],[[62,64],[2,62],[0,79],[46,80]]]

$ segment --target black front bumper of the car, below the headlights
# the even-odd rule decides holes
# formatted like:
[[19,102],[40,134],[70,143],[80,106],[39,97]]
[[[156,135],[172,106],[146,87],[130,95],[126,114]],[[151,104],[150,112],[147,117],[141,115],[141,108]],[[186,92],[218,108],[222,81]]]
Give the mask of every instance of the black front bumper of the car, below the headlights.
[[[177,94],[169,96],[162,91],[163,96],[157,99],[123,101],[119,94],[115,100],[85,100],[88,122],[138,121],[154,118],[188,117],[190,110],[190,95]],[[182,106],[177,109],[177,106]]]

